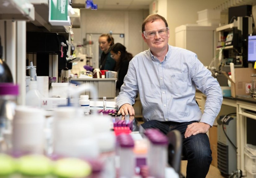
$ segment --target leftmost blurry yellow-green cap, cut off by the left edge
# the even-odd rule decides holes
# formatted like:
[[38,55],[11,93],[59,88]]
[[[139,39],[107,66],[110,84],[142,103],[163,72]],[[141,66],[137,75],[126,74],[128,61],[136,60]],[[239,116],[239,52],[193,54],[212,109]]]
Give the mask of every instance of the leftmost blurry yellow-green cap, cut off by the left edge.
[[7,155],[0,154],[0,178],[9,178],[16,171],[16,163],[15,160]]

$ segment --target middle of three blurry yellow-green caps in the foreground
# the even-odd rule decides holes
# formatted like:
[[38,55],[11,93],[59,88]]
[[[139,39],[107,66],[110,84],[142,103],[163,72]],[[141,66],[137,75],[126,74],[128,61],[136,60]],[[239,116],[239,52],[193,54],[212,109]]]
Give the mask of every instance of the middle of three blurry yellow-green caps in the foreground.
[[20,157],[17,163],[21,178],[48,178],[53,169],[51,160],[43,155],[25,155]]

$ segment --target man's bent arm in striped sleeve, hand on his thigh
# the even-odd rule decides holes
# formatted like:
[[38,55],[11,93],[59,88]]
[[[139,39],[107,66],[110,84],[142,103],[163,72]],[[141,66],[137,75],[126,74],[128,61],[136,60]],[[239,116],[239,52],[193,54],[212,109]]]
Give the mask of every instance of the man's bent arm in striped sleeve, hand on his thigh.
[[198,133],[206,133],[212,127],[217,117],[222,101],[222,91],[218,81],[211,76],[211,72],[194,56],[191,61],[191,78],[196,88],[206,95],[205,109],[200,122],[188,125],[185,138]]

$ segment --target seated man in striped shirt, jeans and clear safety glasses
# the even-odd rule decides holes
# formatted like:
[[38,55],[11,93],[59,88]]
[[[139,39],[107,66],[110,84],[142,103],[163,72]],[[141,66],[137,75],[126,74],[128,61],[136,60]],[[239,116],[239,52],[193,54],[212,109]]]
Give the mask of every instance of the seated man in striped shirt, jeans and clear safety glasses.
[[[188,158],[187,178],[205,177],[212,161],[206,132],[219,113],[221,88],[195,53],[168,45],[169,28],[164,17],[148,16],[142,32],[149,50],[130,61],[116,100],[119,112],[134,115],[132,105],[139,92],[143,127],[158,128],[165,134],[179,130],[183,135],[183,154]],[[196,104],[196,88],[207,97],[204,114]]]

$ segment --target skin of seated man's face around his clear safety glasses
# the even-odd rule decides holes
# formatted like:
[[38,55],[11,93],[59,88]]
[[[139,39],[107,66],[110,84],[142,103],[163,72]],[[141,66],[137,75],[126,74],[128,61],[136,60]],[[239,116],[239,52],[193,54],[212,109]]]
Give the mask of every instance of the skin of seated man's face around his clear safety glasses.
[[[165,28],[166,25],[163,20],[158,19],[155,20],[154,22],[148,22],[145,24],[145,31],[148,30],[156,30],[156,29],[161,29]],[[146,39],[144,34],[142,33],[142,37],[144,41],[148,44],[148,47],[150,50],[159,50],[159,49],[165,49],[166,45],[168,44],[168,38],[170,37],[169,35],[169,30],[167,31],[167,36],[160,36],[158,33],[156,33],[156,36],[154,38]]]

